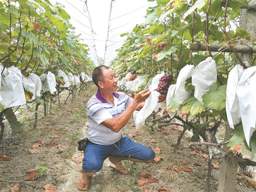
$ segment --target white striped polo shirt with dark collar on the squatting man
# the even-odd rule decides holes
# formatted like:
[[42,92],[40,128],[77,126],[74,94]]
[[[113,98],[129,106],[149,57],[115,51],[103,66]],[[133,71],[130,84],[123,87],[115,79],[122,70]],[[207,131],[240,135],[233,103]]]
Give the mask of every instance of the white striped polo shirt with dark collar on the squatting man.
[[114,92],[114,105],[107,101],[99,91],[87,103],[89,130],[87,137],[99,145],[111,145],[122,137],[123,128],[115,132],[103,125],[102,122],[118,117],[130,104],[132,98],[122,92]]

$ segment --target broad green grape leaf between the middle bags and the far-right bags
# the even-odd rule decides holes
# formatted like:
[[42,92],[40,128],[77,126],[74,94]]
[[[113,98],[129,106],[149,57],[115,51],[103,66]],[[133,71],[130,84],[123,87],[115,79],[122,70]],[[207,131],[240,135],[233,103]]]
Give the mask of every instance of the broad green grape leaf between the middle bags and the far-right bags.
[[202,96],[204,106],[221,111],[226,104],[226,85],[218,88],[217,83],[214,83],[210,92]]

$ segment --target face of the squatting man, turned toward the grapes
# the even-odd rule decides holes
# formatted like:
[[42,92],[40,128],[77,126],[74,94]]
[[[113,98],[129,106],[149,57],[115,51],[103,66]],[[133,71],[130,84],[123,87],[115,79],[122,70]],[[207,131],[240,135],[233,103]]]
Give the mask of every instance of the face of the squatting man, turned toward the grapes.
[[103,69],[103,82],[102,85],[104,89],[107,89],[108,91],[117,91],[117,78],[115,76],[115,73],[112,69]]

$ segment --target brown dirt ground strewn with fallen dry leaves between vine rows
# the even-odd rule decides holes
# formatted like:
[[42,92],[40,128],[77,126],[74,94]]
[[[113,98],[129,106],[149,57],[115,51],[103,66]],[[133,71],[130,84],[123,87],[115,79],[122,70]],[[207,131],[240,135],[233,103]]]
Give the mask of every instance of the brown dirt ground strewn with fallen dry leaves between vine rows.
[[[76,185],[82,176],[82,162],[72,160],[83,158],[83,153],[77,150],[77,141],[84,138],[88,130],[86,116],[87,101],[96,92],[95,87],[84,90],[71,100],[52,105],[47,116],[40,108],[37,128],[33,129],[34,115],[23,110],[17,117],[24,124],[23,131],[14,133],[9,128],[5,130],[3,144],[0,145],[0,155],[11,156],[12,160],[0,160],[0,192],[10,192],[14,183],[21,184],[22,192],[45,192],[44,186],[51,184],[57,192],[78,192]],[[62,95],[65,100],[66,94]],[[130,168],[128,175],[122,175],[110,167],[109,160],[104,161],[103,168],[93,176],[88,192],[204,192],[208,173],[207,159],[196,155],[190,149],[190,134],[185,133],[181,144],[174,153],[174,146],[182,131],[177,126],[167,126],[162,129],[143,126],[136,130],[131,118],[124,128],[123,135],[130,136],[136,142],[151,146],[158,163],[134,163],[126,161]],[[52,138],[52,136],[60,136]],[[155,141],[152,141],[155,140]],[[33,146],[43,141],[40,146]],[[51,146],[51,144],[56,146]],[[33,151],[31,151],[34,149]],[[61,150],[63,150],[61,152]],[[33,153],[36,152],[36,153]],[[79,159],[80,158],[80,159]],[[220,175],[219,162],[214,161],[211,177],[211,192],[217,192]],[[28,169],[41,166],[48,168],[35,180],[25,180],[29,176]],[[45,166],[43,168],[43,166]],[[187,168],[179,172],[174,166]],[[185,167],[185,168],[184,168]],[[140,182],[148,181],[145,174],[155,182],[142,186]],[[142,175],[143,174],[143,175]],[[144,178],[142,178],[144,176]],[[137,182],[137,179],[139,179]],[[254,192],[248,181],[253,179],[244,174],[237,174],[235,192]],[[139,190],[140,189],[140,190]],[[47,192],[56,192],[47,191]],[[16,191],[13,191],[16,192]],[[19,191],[17,191],[19,192]]]

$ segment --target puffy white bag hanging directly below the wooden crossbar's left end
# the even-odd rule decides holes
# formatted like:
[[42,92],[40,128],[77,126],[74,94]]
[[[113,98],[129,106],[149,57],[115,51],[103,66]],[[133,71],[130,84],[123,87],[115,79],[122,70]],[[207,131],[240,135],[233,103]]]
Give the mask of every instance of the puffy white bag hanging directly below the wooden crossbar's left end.
[[194,97],[203,104],[202,96],[209,93],[216,81],[216,63],[211,57],[208,57],[196,65],[193,70],[192,85],[194,86]]

